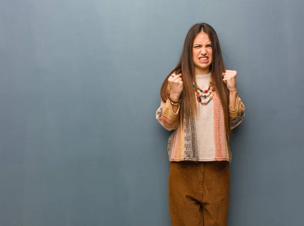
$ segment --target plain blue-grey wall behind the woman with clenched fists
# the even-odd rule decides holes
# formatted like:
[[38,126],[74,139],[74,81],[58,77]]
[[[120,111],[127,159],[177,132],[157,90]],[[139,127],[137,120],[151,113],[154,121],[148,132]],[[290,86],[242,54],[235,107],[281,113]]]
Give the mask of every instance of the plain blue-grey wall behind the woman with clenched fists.
[[301,0],[0,1],[0,225],[170,225],[159,89],[197,22],[238,71],[229,225],[304,225]]

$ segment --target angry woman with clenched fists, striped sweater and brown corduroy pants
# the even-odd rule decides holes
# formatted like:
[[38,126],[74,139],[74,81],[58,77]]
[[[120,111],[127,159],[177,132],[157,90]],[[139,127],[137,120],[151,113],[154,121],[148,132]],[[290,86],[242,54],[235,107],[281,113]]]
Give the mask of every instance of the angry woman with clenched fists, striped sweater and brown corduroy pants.
[[156,113],[161,125],[173,130],[168,140],[173,226],[227,225],[229,136],[245,110],[236,78],[236,71],[224,67],[215,30],[195,24],[177,66],[163,82]]

